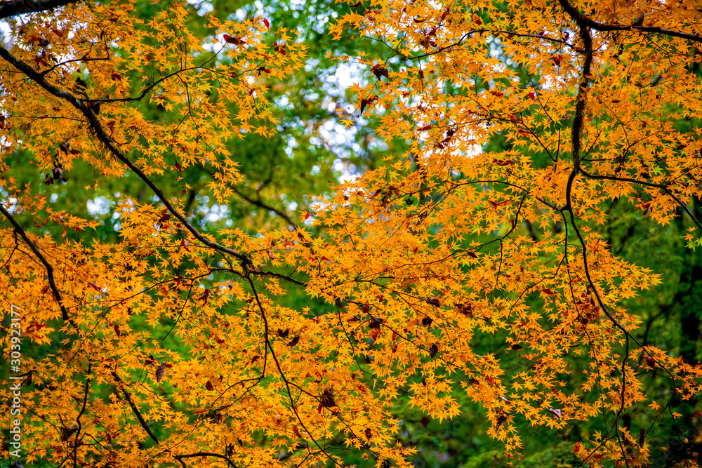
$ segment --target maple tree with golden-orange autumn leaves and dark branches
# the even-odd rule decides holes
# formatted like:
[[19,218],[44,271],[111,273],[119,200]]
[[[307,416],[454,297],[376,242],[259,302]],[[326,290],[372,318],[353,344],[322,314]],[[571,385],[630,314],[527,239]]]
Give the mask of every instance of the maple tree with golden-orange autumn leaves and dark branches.
[[[309,107],[290,89],[321,73],[297,29],[5,2],[0,285],[22,310],[23,462],[409,467],[400,406],[441,422],[477,404],[503,464],[527,428],[574,424],[591,424],[576,463],[653,463],[661,420],[698,423],[671,402],[694,408],[702,368],[640,340],[633,301],[661,275],[603,227],[618,203],[702,245],[699,8],[346,1],[329,37],[365,45],[315,60],[362,70],[335,118],[383,160],[325,190],[296,171],[331,178],[330,154],[281,137],[313,145],[329,117],[281,112]],[[114,201],[110,229],[79,193]],[[194,213],[233,200],[253,208]]]

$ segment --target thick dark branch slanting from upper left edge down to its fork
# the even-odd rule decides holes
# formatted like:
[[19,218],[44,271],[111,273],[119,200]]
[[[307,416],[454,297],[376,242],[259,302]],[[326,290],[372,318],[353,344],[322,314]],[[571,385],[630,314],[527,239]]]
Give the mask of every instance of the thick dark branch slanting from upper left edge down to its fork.
[[192,233],[192,235],[200,241],[201,243],[204,243],[206,246],[213,248],[215,250],[219,250],[220,252],[224,253],[229,253],[230,255],[234,255],[234,257],[238,258],[239,260],[243,262],[249,262],[249,258],[247,255],[244,255],[243,253],[239,253],[236,250],[232,250],[231,248],[225,247],[225,246],[220,246],[220,244],[210,241],[209,239],[206,239],[202,234],[198,232],[197,229],[193,225],[188,222],[187,219],[185,219],[185,216],[180,213],[176,209],[175,206],[171,204],[170,201],[166,198],[166,195],[164,195],[164,192],[161,192],[161,189],[157,187],[156,184],[135,164],[130,161],[124,154],[122,154],[119,149],[114,145],[114,141],[112,141],[112,138],[110,138],[109,135],[105,132],[105,128],[102,128],[102,124],[98,120],[98,117],[93,114],[93,111],[81,100],[76,98],[74,95],[71,93],[68,93],[67,91],[61,90],[53,86],[51,83],[46,81],[44,76],[41,76],[39,72],[34,70],[32,67],[29,67],[25,62],[22,62],[22,60],[19,60],[16,58],[14,55],[12,55],[6,48],[0,47],[0,57],[4,58],[4,60],[7,60],[10,62],[13,67],[18,69],[20,72],[24,73],[29,77],[29,79],[32,79],[35,81],[39,86],[44,88],[48,93],[51,93],[52,95],[56,96],[57,98],[61,98],[62,100],[65,100],[69,102],[70,104],[73,105],[76,109],[78,109],[88,120],[90,123],[90,126],[93,128],[93,131],[95,131],[95,136],[98,137],[98,140],[102,142],[105,147],[116,157],[124,163],[133,173],[139,176],[141,180],[146,182],[146,185],[152,189],[152,191],[159,197],[161,200],[161,203],[164,203],[164,206],[166,206],[166,209],[168,210],[171,215],[173,215],[183,226],[187,228],[188,231]]

